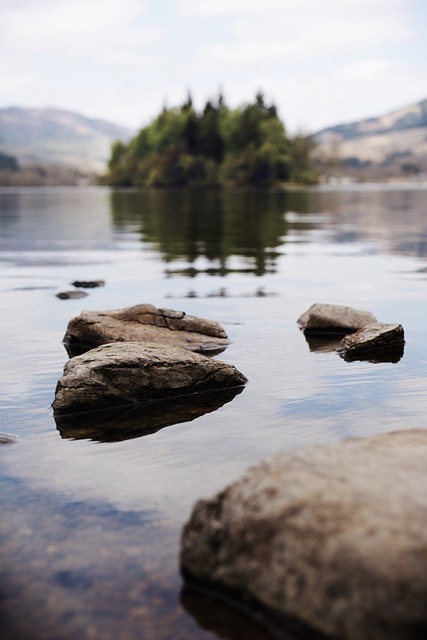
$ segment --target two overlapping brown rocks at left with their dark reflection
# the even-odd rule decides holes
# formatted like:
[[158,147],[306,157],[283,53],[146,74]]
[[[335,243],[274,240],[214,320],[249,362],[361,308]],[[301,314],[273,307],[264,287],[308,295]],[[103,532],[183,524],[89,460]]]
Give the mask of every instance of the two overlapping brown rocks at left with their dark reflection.
[[197,353],[228,344],[219,323],[149,304],[81,313],[64,342],[74,357],[52,403],[63,437],[154,433],[218,409],[247,382],[232,365]]

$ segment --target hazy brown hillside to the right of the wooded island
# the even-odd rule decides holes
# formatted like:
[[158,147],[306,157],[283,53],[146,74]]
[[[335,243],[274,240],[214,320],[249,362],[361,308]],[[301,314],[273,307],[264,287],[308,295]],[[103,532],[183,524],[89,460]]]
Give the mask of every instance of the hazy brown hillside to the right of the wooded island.
[[[315,134],[323,161],[367,176],[427,172],[427,100],[383,116],[339,124]],[[341,167],[342,168],[342,167]]]

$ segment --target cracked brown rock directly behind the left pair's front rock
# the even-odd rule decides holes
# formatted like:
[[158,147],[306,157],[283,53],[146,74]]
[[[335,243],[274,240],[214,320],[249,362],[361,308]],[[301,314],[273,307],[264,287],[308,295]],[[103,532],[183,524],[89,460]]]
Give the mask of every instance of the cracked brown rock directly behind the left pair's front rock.
[[187,316],[183,311],[138,304],[114,311],[84,311],[68,323],[64,343],[98,347],[109,342],[170,344],[191,351],[221,351],[229,344],[218,322]]

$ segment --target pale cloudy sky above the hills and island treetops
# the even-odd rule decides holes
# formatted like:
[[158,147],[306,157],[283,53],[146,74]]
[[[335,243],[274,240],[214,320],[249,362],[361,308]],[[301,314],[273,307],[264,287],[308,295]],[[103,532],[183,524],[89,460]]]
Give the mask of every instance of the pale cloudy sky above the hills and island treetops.
[[261,90],[290,133],[427,98],[425,0],[0,0],[0,108],[146,126]]

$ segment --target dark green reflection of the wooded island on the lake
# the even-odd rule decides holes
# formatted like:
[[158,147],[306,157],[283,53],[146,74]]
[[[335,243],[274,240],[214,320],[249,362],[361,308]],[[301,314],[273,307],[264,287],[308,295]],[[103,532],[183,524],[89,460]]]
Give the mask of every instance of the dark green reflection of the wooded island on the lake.
[[[168,265],[178,259],[192,265],[185,275],[238,271],[262,276],[276,270],[289,226],[283,215],[287,202],[283,191],[120,191],[111,194],[111,211],[117,228],[137,228]],[[231,265],[232,256],[244,258],[245,265]],[[198,268],[200,257],[214,266]],[[167,268],[169,276],[182,273],[182,268]]]

